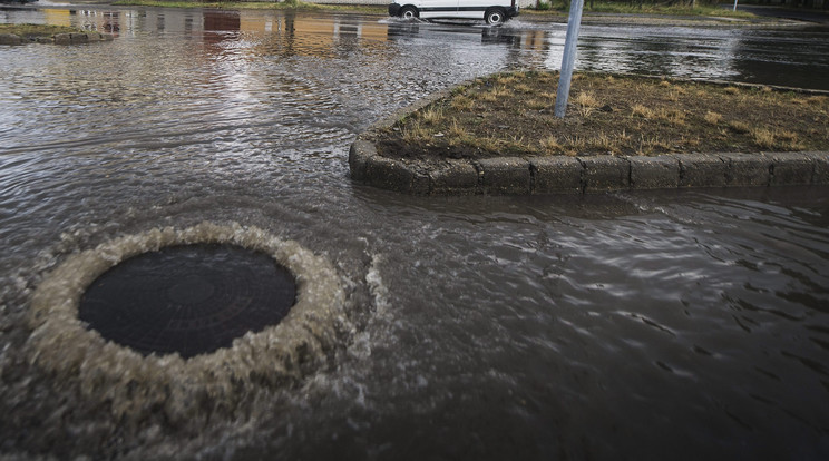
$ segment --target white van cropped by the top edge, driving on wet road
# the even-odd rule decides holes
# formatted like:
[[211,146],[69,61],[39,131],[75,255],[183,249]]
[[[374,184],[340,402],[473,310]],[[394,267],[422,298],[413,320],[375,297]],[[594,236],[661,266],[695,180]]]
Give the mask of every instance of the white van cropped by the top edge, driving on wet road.
[[406,19],[482,19],[499,24],[518,16],[516,0],[392,0],[389,14]]

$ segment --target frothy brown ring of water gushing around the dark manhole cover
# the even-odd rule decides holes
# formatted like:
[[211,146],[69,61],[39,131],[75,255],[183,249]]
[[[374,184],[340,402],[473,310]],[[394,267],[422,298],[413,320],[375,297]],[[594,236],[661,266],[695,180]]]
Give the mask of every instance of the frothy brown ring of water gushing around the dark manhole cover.
[[[85,291],[110,268],[140,254],[194,244],[267,255],[295,277],[293,307],[276,325],[189,359],[178,353],[143,355],[107,341],[78,317]],[[205,282],[181,283],[192,288]],[[170,297],[198,297],[175,293],[181,288],[170,286]],[[58,379],[78,380],[85,398],[110,405],[118,416],[140,419],[162,408],[167,419],[183,421],[205,411],[216,414],[217,409],[232,413],[252,390],[296,382],[323,366],[353,333],[344,298],[332,264],[296,242],[237,224],[156,228],[72,254],[47,274],[32,295],[28,349],[32,362]]]

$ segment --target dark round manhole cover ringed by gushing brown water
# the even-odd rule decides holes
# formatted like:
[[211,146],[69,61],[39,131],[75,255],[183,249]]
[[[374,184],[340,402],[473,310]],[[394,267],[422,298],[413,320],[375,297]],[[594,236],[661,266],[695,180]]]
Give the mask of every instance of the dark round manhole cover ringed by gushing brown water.
[[293,275],[263,253],[179,245],[104,273],[81,297],[78,315],[105,339],[145,355],[186,359],[277,324],[295,300]]

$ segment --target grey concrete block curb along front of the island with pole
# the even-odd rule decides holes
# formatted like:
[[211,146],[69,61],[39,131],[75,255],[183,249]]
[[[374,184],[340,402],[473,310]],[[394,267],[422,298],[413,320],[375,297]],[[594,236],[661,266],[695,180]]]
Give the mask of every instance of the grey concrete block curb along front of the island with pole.
[[404,161],[358,139],[351,177],[413,195],[546,195],[691,187],[829,185],[829,153],[682,154],[656,157],[496,157]]

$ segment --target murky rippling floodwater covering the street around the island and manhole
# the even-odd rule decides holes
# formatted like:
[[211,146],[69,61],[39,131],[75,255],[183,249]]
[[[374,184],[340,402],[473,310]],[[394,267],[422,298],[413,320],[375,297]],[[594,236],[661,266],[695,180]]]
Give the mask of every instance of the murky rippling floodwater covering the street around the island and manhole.
[[[116,35],[0,47],[1,453],[829,457],[826,187],[429,198],[349,179],[370,124],[466,79],[556,68],[563,24],[103,7],[0,21]],[[829,89],[826,29],[583,33],[582,69]],[[349,326],[320,366],[223,394],[207,374],[159,386],[137,359],[90,349],[75,366],[72,344],[38,346],[33,292],[70,255],[203,222],[331,263]]]

